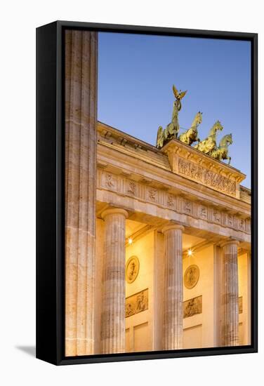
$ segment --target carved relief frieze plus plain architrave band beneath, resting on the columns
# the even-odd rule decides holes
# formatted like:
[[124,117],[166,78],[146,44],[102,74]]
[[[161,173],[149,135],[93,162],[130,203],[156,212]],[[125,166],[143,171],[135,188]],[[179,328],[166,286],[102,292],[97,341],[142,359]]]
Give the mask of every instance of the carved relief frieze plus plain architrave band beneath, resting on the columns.
[[[160,187],[153,180],[131,180],[124,172],[112,173],[98,164],[97,199],[112,204],[137,208],[146,214],[160,213],[164,219],[173,218],[170,212],[178,213],[177,219],[184,224],[194,225],[198,229],[222,229],[222,234],[229,234],[233,229],[237,237],[244,239],[243,234],[251,233],[251,219],[248,213],[227,211],[208,201],[190,198],[187,195],[175,194],[170,189]],[[246,238],[247,239],[247,238]]]

